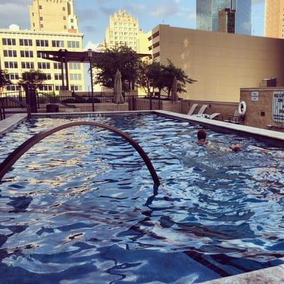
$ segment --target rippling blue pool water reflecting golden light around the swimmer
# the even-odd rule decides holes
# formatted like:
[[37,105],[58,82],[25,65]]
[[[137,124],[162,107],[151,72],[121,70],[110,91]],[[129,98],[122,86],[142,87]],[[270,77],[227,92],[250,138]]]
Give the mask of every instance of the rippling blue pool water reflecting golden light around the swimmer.
[[[4,283],[201,283],[284,261],[284,151],[155,115],[96,116],[143,147],[76,126],[45,138],[0,183]],[[70,119],[37,119],[0,140],[0,159]],[[224,148],[241,143],[241,151]],[[219,148],[219,150],[218,150]],[[220,150],[221,148],[221,150]],[[1,282],[0,281],[0,282]]]

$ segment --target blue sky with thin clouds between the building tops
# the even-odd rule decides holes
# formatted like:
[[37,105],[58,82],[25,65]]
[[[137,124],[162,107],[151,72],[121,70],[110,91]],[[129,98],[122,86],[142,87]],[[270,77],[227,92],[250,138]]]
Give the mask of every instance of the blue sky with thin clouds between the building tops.
[[[30,2],[31,0],[0,0],[0,28],[8,28],[11,23],[29,28]],[[252,2],[252,33],[262,36],[264,0]],[[145,32],[159,23],[195,28],[195,0],[75,0],[80,32],[84,33],[84,47],[95,47],[104,40],[109,15],[119,9],[125,9],[138,18],[139,26]]]

